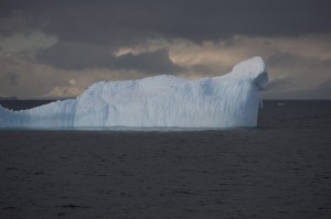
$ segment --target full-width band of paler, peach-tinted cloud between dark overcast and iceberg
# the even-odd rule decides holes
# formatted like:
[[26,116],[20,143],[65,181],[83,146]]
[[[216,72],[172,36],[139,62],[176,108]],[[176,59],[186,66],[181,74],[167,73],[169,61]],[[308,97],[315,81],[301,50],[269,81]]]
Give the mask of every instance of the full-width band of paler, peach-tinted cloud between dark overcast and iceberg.
[[[22,53],[0,53],[0,78],[7,78],[0,81],[0,92],[20,97],[45,96],[56,88],[52,95],[58,96],[78,94],[98,80],[171,73],[185,78],[216,76],[229,72],[241,61],[260,55],[271,79],[264,96],[287,98],[291,92],[301,97],[302,90],[312,90],[331,77],[330,39],[325,34],[299,37],[236,35],[197,44],[161,37],[117,48],[57,42],[41,50],[34,59]],[[76,57],[76,53],[82,56]],[[11,86],[8,73],[15,74],[10,77],[17,86]],[[77,89],[73,91],[71,87]]]

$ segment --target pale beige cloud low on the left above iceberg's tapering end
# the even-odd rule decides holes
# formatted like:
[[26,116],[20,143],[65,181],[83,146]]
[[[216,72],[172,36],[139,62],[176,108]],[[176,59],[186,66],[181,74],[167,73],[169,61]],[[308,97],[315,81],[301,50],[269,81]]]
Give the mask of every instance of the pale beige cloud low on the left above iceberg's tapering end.
[[0,53],[0,96],[19,98],[74,96],[96,81],[149,76],[146,73],[125,69],[58,69],[18,53]]

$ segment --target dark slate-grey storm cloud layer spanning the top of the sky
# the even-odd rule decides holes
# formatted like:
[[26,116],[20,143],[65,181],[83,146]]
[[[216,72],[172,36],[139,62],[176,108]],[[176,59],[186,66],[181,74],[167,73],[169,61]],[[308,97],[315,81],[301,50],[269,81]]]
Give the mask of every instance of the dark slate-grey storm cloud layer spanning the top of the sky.
[[233,34],[331,31],[331,2],[327,0],[10,0],[1,4],[2,18],[20,14],[29,20],[25,26],[70,41],[120,44],[149,34],[202,41]]

